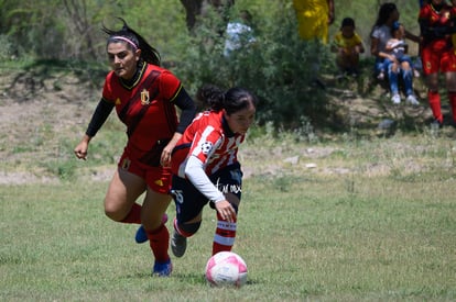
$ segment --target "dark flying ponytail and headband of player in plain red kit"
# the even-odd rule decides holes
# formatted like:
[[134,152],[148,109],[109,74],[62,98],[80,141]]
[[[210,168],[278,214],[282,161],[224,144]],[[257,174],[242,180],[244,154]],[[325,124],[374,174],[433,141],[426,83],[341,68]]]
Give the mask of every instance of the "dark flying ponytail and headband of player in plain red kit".
[[128,26],[127,22],[122,18],[118,19],[123,23],[123,26],[120,31],[110,30],[102,25],[102,31],[109,35],[108,44],[112,42],[120,42],[122,40],[119,37],[124,37],[132,43],[127,43],[128,47],[131,49],[141,49],[141,58],[144,61],[160,66],[161,57],[159,51],[152,47],[139,33]]

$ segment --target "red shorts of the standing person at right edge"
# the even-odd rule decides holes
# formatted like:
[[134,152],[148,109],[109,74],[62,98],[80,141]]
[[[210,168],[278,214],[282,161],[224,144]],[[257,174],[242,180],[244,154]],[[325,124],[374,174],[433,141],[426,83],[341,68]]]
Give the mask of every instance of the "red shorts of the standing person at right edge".
[[433,47],[423,47],[421,51],[421,60],[423,61],[423,74],[425,76],[441,72],[456,72],[456,55],[453,47],[445,49],[433,49]]

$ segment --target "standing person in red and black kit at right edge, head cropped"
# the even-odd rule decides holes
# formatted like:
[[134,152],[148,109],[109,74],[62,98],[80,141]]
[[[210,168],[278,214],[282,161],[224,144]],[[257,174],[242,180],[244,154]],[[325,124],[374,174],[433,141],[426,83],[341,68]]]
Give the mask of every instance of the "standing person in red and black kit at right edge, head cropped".
[[441,96],[438,93],[438,72],[444,74],[446,90],[456,125],[456,55],[452,34],[456,32],[456,8],[444,0],[427,1],[420,10],[421,60],[428,88],[427,98],[434,125],[443,125]]

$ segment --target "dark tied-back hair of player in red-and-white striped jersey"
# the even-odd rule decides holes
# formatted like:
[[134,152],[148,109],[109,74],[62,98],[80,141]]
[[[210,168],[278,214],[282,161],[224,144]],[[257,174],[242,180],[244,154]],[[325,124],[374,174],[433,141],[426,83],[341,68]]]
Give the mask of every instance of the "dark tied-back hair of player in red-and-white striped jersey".
[[257,107],[257,98],[248,90],[235,87],[224,91],[214,85],[203,86],[196,93],[197,100],[208,104],[211,110],[220,111],[225,109],[227,114],[232,114],[250,104]]

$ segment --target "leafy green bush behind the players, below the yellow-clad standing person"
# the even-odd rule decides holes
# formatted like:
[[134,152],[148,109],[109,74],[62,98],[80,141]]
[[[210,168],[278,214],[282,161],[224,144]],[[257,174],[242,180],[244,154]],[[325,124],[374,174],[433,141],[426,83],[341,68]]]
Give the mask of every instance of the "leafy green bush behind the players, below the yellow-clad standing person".
[[225,35],[215,30],[221,21],[211,12],[183,44],[175,70],[193,93],[208,82],[221,88],[246,87],[260,99],[260,124],[295,128],[303,119],[312,121],[325,110],[325,94],[315,80],[330,61],[329,51],[319,42],[298,38],[290,4],[276,4],[274,12],[257,23],[260,30],[254,32],[253,44],[228,57],[224,56]]

